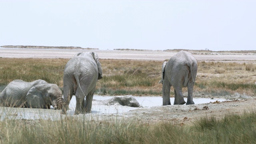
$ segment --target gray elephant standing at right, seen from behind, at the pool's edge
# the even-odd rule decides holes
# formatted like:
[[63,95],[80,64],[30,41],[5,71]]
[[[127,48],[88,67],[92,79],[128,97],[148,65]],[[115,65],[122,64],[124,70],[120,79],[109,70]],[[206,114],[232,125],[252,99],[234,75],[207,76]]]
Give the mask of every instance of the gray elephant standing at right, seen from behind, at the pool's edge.
[[[162,65],[163,106],[170,105],[170,87],[174,87],[174,104],[194,104],[193,87],[196,80],[197,62],[191,53],[181,50]],[[188,87],[188,99],[184,101],[182,87]]]

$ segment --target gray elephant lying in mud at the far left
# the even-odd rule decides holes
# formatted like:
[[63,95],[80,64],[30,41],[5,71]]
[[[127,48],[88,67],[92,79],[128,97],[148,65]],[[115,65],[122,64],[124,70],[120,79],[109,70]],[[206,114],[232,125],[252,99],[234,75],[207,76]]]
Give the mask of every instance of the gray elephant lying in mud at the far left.
[[61,109],[62,104],[61,90],[44,80],[13,80],[0,94],[0,106],[6,107]]

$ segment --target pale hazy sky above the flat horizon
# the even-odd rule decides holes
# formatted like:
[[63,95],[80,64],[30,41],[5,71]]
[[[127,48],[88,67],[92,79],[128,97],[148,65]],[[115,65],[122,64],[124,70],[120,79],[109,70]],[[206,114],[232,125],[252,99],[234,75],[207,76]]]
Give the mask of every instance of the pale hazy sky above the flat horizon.
[[256,0],[0,0],[0,46],[256,50]]

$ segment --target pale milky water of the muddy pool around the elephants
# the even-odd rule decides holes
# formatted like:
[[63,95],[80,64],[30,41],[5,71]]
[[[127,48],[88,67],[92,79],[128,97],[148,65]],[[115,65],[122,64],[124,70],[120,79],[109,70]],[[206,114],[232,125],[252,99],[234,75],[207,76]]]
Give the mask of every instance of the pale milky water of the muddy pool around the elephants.
[[[113,96],[94,96],[96,100],[106,100],[112,98]],[[144,108],[150,108],[152,106],[162,106],[162,97],[160,96],[141,96],[136,97],[140,105]],[[208,102],[224,101],[225,99],[208,99],[208,98],[193,98],[195,104],[203,104]],[[186,101],[186,98],[185,98]],[[171,104],[173,104],[174,98],[171,98]],[[72,97],[69,105],[70,110],[67,112],[67,116],[73,116],[74,110],[76,108],[76,98]],[[123,114],[130,110],[137,108],[128,106],[92,106],[92,114],[85,114],[88,118],[98,115],[111,115],[111,114]],[[60,110],[53,109],[34,109],[34,108],[7,108],[0,107],[0,120],[4,119],[50,119],[50,120],[60,120],[66,115],[61,115]],[[81,115],[79,115],[81,116]],[[84,117],[83,116],[83,117]]]

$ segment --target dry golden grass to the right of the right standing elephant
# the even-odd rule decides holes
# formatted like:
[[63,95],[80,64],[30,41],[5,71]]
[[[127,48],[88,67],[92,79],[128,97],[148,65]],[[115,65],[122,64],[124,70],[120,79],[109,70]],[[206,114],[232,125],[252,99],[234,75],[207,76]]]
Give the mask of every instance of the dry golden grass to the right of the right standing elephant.
[[[255,66],[255,64],[250,64]],[[198,63],[198,92],[226,91],[234,94],[256,95],[256,74],[246,70],[247,64],[200,62]]]

